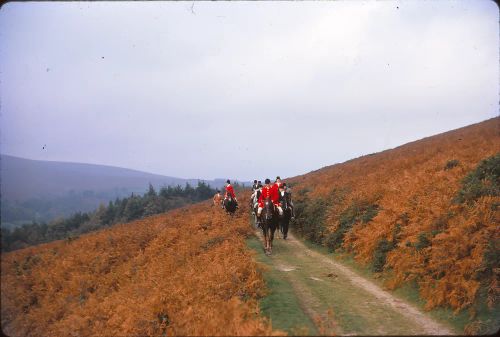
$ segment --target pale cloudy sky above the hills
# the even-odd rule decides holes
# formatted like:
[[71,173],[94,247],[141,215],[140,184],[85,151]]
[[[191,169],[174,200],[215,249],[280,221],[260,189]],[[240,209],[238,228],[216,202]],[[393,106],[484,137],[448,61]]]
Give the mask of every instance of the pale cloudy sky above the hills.
[[291,177],[498,116],[493,1],[11,2],[0,152]]

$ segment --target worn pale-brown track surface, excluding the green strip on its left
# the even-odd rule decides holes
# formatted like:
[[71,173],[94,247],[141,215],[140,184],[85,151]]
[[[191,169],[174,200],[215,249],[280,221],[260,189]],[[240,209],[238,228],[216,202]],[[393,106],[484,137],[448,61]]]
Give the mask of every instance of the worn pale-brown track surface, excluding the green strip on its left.
[[[261,232],[258,237],[262,240]],[[329,321],[341,335],[455,335],[449,327],[415,306],[353,272],[332,257],[311,250],[289,234],[275,237],[273,268],[284,273],[301,309],[312,320]],[[333,317],[327,317],[328,310]],[[332,322],[333,321],[333,322]],[[316,323],[317,324],[317,323]],[[318,326],[318,331],[321,327]],[[324,330],[324,327],[323,327]]]

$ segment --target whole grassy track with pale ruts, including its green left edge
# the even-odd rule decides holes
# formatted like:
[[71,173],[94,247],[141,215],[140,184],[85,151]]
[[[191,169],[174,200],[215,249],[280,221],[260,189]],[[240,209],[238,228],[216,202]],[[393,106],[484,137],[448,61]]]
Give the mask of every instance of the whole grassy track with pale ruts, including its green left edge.
[[[259,233],[260,236],[260,233]],[[257,258],[269,266],[271,294],[263,307],[273,326],[290,333],[338,335],[453,335],[416,307],[397,299],[330,256],[306,247],[293,235],[276,239],[273,254],[262,243],[249,241]],[[279,287],[275,287],[278,282]],[[288,293],[284,294],[283,291]],[[272,298],[270,298],[272,297]],[[282,300],[287,300],[282,309]],[[293,317],[287,321],[287,313]],[[288,318],[289,318],[288,317]]]

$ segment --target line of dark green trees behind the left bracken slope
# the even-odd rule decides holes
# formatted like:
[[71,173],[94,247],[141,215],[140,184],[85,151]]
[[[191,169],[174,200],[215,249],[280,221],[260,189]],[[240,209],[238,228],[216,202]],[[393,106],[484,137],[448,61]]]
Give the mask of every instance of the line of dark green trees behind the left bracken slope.
[[77,212],[67,218],[58,218],[50,222],[32,222],[14,229],[1,229],[2,251],[11,251],[46,243],[54,240],[72,240],[78,235],[117,223],[129,222],[150,215],[199,202],[212,197],[216,190],[200,181],[196,187],[186,183],[184,187],[165,186],[159,192],[153,185],[142,196],[132,193],[129,197],[101,204],[91,212]]

